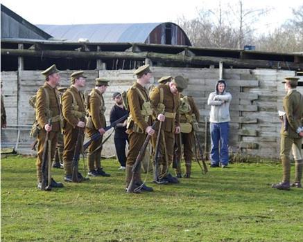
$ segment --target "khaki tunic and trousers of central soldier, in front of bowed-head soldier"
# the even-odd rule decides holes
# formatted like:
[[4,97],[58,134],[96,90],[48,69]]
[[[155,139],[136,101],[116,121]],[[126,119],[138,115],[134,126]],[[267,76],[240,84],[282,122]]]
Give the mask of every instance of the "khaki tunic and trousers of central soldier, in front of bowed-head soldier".
[[[129,89],[127,98],[130,109],[127,125],[130,145],[126,160],[126,187],[128,187],[132,178],[132,166],[135,164],[141,146],[146,138],[145,130],[152,123],[152,110],[146,89],[135,82]],[[135,179],[140,181],[140,171],[135,175]]]

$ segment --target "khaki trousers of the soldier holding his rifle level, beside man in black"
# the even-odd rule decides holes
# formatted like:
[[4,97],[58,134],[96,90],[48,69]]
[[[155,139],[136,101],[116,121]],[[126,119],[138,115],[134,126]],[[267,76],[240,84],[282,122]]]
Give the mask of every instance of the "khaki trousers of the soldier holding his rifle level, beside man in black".
[[[94,133],[98,133],[98,130],[96,129],[85,129],[87,135],[90,137]],[[97,140],[94,140],[88,147],[88,170],[94,171],[95,169],[101,168],[101,151],[102,147],[96,150],[101,144],[102,144],[103,136],[98,138]],[[93,152],[94,151],[94,152]]]

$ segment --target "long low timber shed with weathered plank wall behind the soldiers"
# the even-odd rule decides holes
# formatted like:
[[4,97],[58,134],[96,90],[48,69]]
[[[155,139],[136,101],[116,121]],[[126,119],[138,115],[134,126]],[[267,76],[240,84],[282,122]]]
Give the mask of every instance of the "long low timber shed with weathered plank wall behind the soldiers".
[[[51,35],[49,30],[43,29]],[[200,110],[199,138],[205,151],[210,143],[207,97],[214,91],[216,80],[224,78],[227,90],[232,93],[230,151],[245,156],[279,157],[281,123],[277,111],[282,109],[285,95],[281,82],[284,77],[295,75],[303,81],[300,75],[302,53],[195,48],[186,41],[177,45],[150,44],[146,39],[139,43],[93,42],[89,36],[82,35],[81,38],[89,41],[55,38],[57,40],[1,37],[1,81],[9,125],[21,129],[23,125],[33,123],[35,114],[28,98],[43,84],[41,71],[51,64],[61,70],[62,86],[69,86],[69,75],[79,69],[88,77],[85,91],[92,89],[96,77],[108,78],[110,86],[105,93],[107,117],[114,104],[112,93],[127,90],[135,82],[134,69],[150,64],[152,84],[157,84],[164,75],[183,75],[189,79],[189,87],[184,93],[193,96]],[[302,86],[298,89],[303,93]],[[3,130],[1,142],[13,142],[16,132]],[[19,140],[24,143],[32,141],[26,131],[23,134],[19,131]],[[107,142],[106,146],[107,155],[113,155],[112,142]]]

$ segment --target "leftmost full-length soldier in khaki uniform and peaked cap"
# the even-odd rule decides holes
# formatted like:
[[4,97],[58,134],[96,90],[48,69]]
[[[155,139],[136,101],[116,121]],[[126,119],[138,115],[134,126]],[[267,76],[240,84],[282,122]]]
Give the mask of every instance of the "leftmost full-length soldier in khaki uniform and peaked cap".
[[[49,140],[51,140],[51,159],[53,159],[55,153],[55,145],[57,144],[58,133],[61,131],[61,110],[60,100],[58,96],[57,86],[60,82],[59,71],[56,66],[53,65],[42,72],[45,76],[44,86],[40,87],[37,91],[36,105],[36,119],[42,128],[37,137],[37,187],[42,187],[42,156],[44,150],[44,141],[46,138],[46,132],[49,132]],[[51,125],[48,124],[51,119]],[[51,187],[63,187],[62,183],[56,183],[51,178]]]

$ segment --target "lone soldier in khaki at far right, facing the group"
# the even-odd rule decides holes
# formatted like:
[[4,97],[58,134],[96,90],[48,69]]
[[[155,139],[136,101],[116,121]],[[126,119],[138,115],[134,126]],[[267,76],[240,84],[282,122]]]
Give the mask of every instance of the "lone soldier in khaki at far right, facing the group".
[[[302,137],[303,137],[303,95],[296,90],[297,77],[286,77],[284,88],[286,96],[283,99],[283,107],[286,115],[281,129],[280,157],[283,166],[282,183],[273,184],[272,188],[289,190],[291,186],[302,187]],[[295,181],[291,184],[291,149],[295,149]]]

